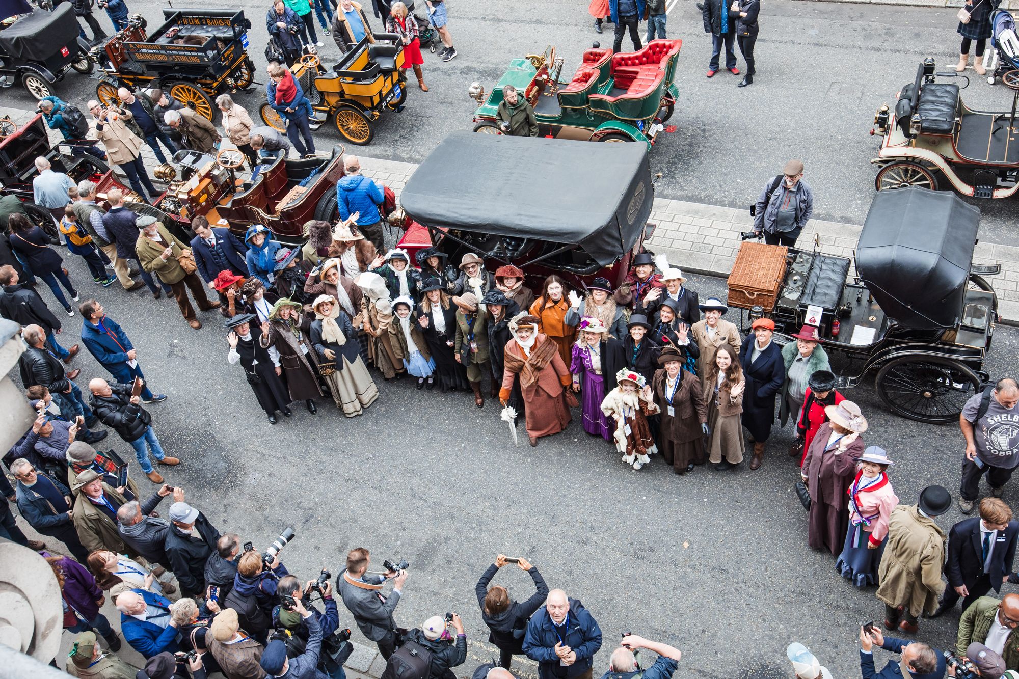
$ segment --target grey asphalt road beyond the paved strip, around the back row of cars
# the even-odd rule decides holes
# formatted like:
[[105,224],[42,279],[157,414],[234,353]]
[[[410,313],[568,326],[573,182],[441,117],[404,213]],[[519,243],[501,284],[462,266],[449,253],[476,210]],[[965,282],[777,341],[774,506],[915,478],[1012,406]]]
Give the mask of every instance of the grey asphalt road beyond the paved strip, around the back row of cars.
[[[187,4],[180,0],[176,6]],[[260,83],[266,80],[265,4],[239,3],[254,24],[249,52]],[[141,11],[150,25],[158,25],[165,5],[129,0],[128,6],[132,12]],[[878,141],[869,135],[874,110],[895,101],[924,57],[933,56],[938,70],[956,62],[955,14],[952,8],[773,0],[761,13],[754,85],[738,89],[740,77],[725,70],[705,79],[710,39],[694,0],[677,0],[667,30],[671,38],[684,41],[676,71],[680,99],[669,120],[676,132],[663,134],[652,151],[653,168],[664,175],[658,194],[744,207],[786,160],[800,157],[814,190],[814,216],[862,223],[876,173],[868,162]],[[108,29],[109,19],[101,11],[98,16]],[[373,28],[382,27],[375,20]],[[467,96],[473,81],[490,90],[512,59],[541,52],[546,45],[555,45],[565,59],[562,72],[569,76],[592,41],[610,47],[612,40],[611,29],[600,36],[594,33],[586,4],[576,0],[451,0],[449,30],[459,56],[444,63],[425,52],[424,72],[431,90],[420,92],[412,75],[405,110],[383,113],[365,155],[420,162],[449,130],[473,125],[475,103]],[[643,36],[643,24],[641,31]],[[329,64],[339,52],[330,38],[323,40],[326,46],[320,51]],[[627,38],[624,49],[629,46]],[[745,67],[742,59],[739,67]],[[974,75],[972,70],[967,73]],[[55,89],[61,98],[84,104],[94,96],[96,85],[97,81],[70,71]],[[972,108],[1008,111],[1011,94],[1001,84],[991,87],[974,75],[963,100]],[[7,90],[5,97],[11,106],[34,106],[31,95],[19,87]],[[253,86],[236,99],[257,119],[264,101],[262,88]],[[320,149],[327,149],[340,138],[335,129],[322,127],[316,140],[321,140]],[[540,175],[541,168],[536,167],[535,180]],[[978,205],[985,215],[982,240],[1019,244],[1012,226],[1017,215],[1014,203],[984,200]]]

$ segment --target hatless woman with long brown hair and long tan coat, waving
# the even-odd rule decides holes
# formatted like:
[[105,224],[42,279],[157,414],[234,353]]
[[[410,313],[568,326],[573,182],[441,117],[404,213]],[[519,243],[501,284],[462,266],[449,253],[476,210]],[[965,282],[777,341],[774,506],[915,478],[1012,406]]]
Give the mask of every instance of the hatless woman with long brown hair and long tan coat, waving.
[[736,351],[729,345],[714,350],[704,366],[704,403],[707,406],[708,462],[726,471],[743,462],[743,393],[746,380]]

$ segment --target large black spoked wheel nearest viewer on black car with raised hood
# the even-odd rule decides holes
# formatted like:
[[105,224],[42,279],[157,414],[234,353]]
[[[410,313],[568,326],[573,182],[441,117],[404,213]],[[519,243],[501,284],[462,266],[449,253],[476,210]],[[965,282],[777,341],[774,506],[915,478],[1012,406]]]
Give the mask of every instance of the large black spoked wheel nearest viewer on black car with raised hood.
[[895,413],[918,422],[959,419],[980,378],[968,366],[941,356],[903,356],[877,373],[877,393]]

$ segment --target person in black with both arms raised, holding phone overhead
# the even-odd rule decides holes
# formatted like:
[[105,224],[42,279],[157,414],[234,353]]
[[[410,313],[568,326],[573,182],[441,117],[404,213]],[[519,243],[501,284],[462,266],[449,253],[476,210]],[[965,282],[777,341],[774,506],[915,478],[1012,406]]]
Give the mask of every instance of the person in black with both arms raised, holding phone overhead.
[[[509,563],[516,563],[534,580],[537,591],[524,603],[512,600],[509,592],[501,585],[488,586],[498,570]],[[548,596],[548,585],[538,573],[538,569],[527,559],[509,559],[500,554],[495,558],[495,563],[489,566],[478,580],[474,590],[481,606],[481,618],[488,625],[488,640],[499,649],[499,667],[508,670],[513,657],[524,654],[527,621],[541,608],[545,597]]]

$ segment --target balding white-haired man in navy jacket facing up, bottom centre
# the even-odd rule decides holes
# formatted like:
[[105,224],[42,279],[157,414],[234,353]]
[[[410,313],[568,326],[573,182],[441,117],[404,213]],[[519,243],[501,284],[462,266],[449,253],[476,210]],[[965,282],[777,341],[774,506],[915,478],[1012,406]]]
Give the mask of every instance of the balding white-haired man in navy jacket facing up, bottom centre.
[[600,647],[598,623],[561,589],[548,592],[545,610],[534,614],[524,635],[524,652],[537,661],[538,679],[591,679]]

